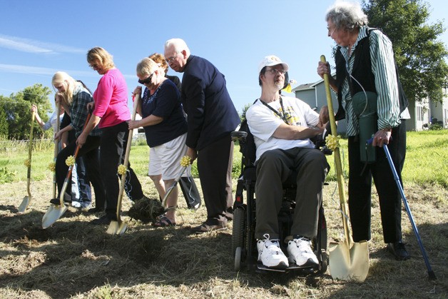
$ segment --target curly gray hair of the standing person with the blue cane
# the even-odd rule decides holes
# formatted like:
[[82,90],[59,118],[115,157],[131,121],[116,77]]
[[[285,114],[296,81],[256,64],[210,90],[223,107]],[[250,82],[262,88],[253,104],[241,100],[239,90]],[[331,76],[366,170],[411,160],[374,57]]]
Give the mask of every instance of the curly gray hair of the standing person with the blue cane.
[[340,1],[327,9],[325,21],[331,20],[337,29],[352,31],[360,26],[367,25],[367,15],[362,11],[361,5],[355,1]]

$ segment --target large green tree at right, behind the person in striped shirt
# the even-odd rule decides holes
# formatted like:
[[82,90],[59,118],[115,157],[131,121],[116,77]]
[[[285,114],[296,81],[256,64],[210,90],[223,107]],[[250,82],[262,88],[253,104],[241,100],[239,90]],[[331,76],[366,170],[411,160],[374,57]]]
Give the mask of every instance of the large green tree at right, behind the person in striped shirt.
[[380,29],[392,41],[404,93],[409,101],[443,100],[448,83],[446,46],[437,37],[442,21],[427,24],[429,11],[421,0],[362,1],[369,26]]

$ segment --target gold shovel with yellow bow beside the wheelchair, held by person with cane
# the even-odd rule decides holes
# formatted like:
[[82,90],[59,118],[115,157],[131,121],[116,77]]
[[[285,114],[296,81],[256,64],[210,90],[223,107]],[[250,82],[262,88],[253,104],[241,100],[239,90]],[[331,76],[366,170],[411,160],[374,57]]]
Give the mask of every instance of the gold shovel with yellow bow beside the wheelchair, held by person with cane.
[[[326,63],[325,56],[320,56],[320,61]],[[335,167],[337,176],[337,186],[339,189],[340,208],[342,211],[342,225],[344,227],[345,240],[340,243],[330,244],[330,274],[332,278],[340,280],[364,281],[369,273],[369,248],[367,241],[355,243],[351,239],[348,227],[344,177],[342,173],[342,163],[340,151],[336,137],[335,113],[330,93],[330,81],[328,74],[324,74],[325,93],[327,94],[328,113],[330,114],[330,126],[332,136],[328,136],[330,143],[335,143],[331,148],[335,153]]]

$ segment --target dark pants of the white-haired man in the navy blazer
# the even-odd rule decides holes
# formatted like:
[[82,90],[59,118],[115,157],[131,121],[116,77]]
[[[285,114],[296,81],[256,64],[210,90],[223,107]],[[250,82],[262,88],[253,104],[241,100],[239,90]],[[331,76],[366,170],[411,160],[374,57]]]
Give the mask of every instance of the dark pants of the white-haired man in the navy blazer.
[[226,211],[233,206],[232,162],[230,133],[198,151],[198,173],[208,225],[227,223]]

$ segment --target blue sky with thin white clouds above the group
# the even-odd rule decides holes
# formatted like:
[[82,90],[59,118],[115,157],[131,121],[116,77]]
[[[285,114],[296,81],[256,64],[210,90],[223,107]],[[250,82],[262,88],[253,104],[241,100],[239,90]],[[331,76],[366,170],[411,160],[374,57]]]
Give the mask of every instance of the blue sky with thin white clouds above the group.
[[[101,46],[113,55],[131,91],[136,65],[163,54],[171,38],[184,39],[191,54],[214,64],[227,80],[238,112],[260,96],[258,64],[276,55],[290,66],[290,79],[314,83],[320,55],[334,65],[334,41],[325,12],[334,0],[0,0],[0,95],[41,83],[51,87],[66,71],[94,91],[100,75],[86,53]],[[429,24],[444,20],[445,0],[426,1]],[[448,45],[448,33],[439,37]],[[182,74],[168,71],[182,78]],[[292,95],[293,96],[293,95]],[[50,95],[50,101],[54,95]]]

